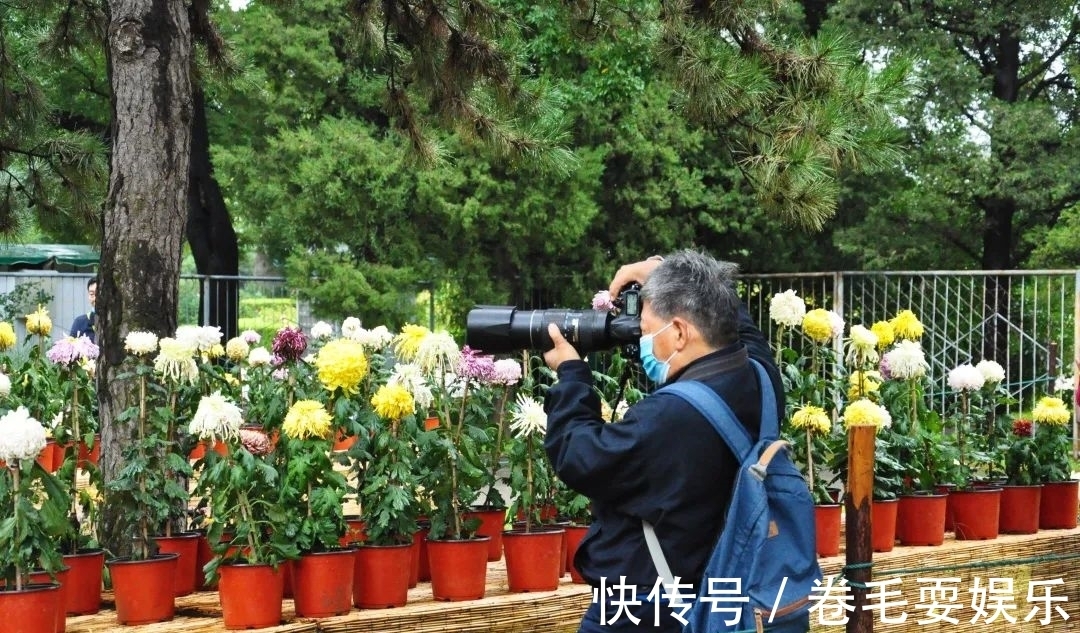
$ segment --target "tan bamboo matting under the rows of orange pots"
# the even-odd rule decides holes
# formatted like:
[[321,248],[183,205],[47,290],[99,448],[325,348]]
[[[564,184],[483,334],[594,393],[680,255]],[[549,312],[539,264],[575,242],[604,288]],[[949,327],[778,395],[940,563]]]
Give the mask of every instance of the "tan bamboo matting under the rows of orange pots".
[[[1080,528],[1074,530],[1043,530],[1030,536],[1001,536],[989,541],[956,541],[946,537],[944,544],[930,547],[897,547],[892,552],[877,554],[874,561],[874,577],[881,580],[891,577],[902,579],[902,595],[891,601],[906,600],[907,606],[890,608],[887,614],[897,617],[907,611],[907,621],[900,624],[883,623],[874,615],[874,630],[878,632],[926,631],[930,633],[972,633],[975,631],[1008,631],[1028,633],[1032,631],[1080,631],[1080,558],[1039,560],[1044,556],[1080,554]],[[1001,562],[1009,562],[1001,565]],[[843,556],[822,558],[822,570],[826,576],[837,575],[843,566]],[[939,570],[917,571],[928,567]],[[923,602],[917,577],[956,576],[959,583],[958,602],[962,609],[950,615],[959,622],[918,624],[915,620],[927,618],[924,609],[915,605]],[[970,622],[974,611],[970,607],[973,577],[980,576],[985,585],[988,578],[1012,578],[1017,610],[1013,611],[1016,623],[1008,623],[1000,618],[991,623],[985,619]],[[1030,607],[1026,604],[1027,581],[1062,578],[1064,587],[1054,588],[1055,595],[1064,594],[1068,603],[1063,608],[1068,621],[1055,616],[1047,625],[1036,620],[1024,621]],[[571,584],[564,578],[559,588],[550,593],[512,594],[507,589],[503,563],[489,563],[487,595],[483,600],[445,603],[431,597],[431,585],[421,582],[409,591],[409,602],[404,607],[380,610],[352,610],[348,615],[322,620],[296,618],[293,602],[285,601],[283,623],[280,627],[261,629],[268,633],[436,633],[459,631],[464,633],[524,633],[554,632],[571,633],[577,630],[581,614],[589,606],[590,590],[582,584]],[[177,598],[176,618],[171,622],[143,627],[120,627],[111,609],[111,595],[105,594],[105,607],[95,616],[71,617],[67,621],[68,633],[216,633],[225,631],[220,619],[217,593],[200,592]],[[826,625],[814,620],[813,633],[842,631],[842,625]]]

